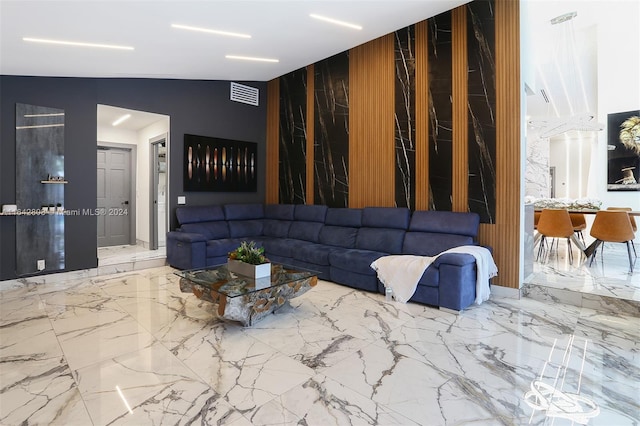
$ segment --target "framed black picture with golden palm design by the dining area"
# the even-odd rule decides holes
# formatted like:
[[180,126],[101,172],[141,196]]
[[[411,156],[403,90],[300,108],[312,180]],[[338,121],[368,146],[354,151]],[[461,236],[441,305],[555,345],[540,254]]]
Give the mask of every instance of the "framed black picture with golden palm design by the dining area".
[[607,191],[640,191],[640,110],[608,115]]

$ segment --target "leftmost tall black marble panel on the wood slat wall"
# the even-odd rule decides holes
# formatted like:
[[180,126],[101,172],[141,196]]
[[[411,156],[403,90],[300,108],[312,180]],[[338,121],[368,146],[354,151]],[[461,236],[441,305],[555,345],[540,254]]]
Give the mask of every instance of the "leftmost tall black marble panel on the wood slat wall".
[[307,69],[280,77],[280,203],[306,204]]

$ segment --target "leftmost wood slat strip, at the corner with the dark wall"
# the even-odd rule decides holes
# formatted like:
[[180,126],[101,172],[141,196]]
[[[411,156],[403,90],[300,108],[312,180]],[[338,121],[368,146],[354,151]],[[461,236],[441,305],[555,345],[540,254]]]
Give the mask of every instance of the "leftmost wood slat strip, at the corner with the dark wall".
[[265,161],[265,203],[280,202],[280,79],[267,83],[267,158]]

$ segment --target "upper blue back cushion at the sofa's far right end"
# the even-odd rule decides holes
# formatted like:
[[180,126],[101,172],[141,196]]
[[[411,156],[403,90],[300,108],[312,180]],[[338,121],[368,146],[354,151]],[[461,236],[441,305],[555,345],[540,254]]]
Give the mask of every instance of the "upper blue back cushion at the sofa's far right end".
[[480,216],[477,213],[427,211],[413,212],[409,231],[478,236]]

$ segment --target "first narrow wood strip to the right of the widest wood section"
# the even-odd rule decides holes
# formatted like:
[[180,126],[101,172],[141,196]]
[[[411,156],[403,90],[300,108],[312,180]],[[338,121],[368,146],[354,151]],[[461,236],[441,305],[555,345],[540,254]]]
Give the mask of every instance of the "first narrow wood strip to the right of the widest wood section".
[[416,24],[416,210],[429,209],[429,66],[427,21]]

